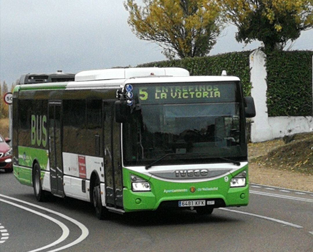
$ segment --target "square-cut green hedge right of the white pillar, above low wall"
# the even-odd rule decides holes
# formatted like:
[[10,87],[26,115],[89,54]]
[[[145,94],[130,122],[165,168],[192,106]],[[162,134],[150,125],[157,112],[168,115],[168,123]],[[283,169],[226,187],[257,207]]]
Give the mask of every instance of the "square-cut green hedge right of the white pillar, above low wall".
[[313,51],[278,51],[267,55],[269,116],[312,116]]

